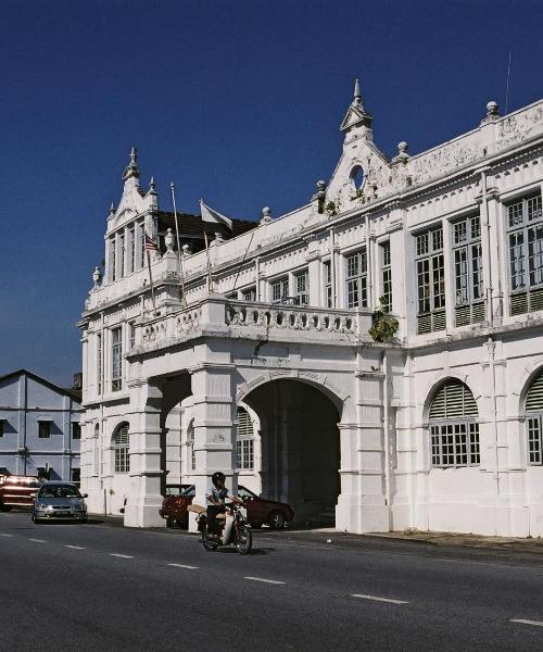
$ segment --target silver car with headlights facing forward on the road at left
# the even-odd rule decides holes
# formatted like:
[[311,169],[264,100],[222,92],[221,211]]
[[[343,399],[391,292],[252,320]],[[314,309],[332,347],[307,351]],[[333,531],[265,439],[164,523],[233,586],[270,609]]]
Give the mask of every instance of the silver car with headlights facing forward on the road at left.
[[33,521],[66,519],[87,522],[87,493],[79,493],[79,489],[72,482],[45,482],[33,505]]

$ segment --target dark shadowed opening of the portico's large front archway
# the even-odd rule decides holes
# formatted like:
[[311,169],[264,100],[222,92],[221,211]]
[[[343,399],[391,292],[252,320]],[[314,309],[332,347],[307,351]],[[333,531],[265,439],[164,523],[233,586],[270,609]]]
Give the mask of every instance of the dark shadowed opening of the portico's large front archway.
[[260,417],[262,494],[288,502],[296,522],[333,525],[340,493],[341,415],[300,379],[277,379],[244,397]]

